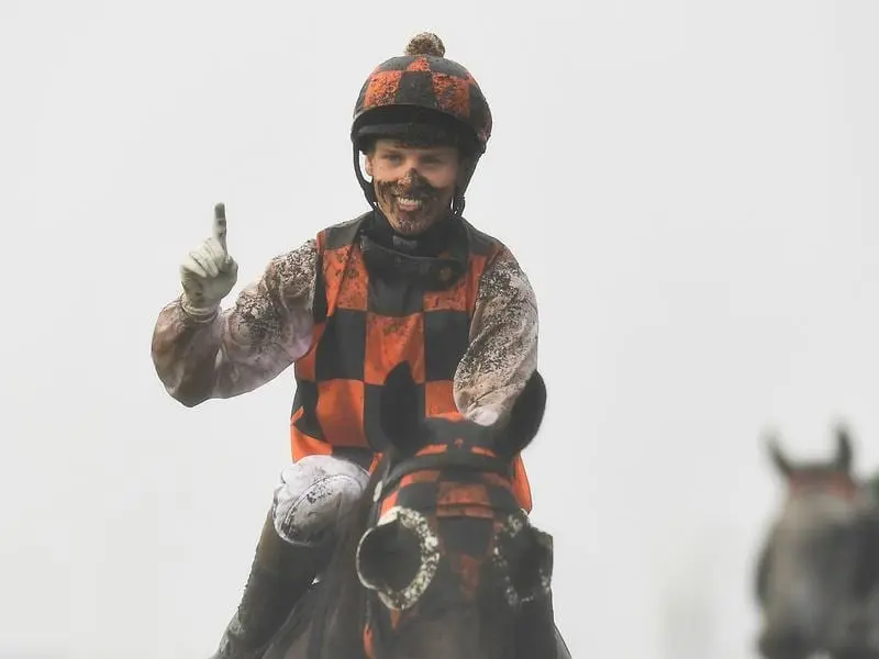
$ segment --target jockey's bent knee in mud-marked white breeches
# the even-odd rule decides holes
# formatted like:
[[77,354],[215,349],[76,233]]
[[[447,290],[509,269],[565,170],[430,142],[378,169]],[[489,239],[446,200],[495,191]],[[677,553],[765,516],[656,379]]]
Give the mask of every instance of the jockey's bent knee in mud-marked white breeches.
[[307,456],[281,471],[271,513],[275,530],[292,545],[329,539],[340,517],[360,499],[369,473],[335,456]]

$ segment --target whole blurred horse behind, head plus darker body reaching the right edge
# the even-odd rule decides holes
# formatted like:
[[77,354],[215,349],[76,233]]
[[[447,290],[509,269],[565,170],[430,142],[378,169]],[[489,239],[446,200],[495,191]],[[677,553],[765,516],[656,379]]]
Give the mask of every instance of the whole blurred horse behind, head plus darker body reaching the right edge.
[[792,462],[776,439],[769,453],[787,496],[757,563],[767,659],[879,659],[879,509],[852,471],[847,431],[836,455]]

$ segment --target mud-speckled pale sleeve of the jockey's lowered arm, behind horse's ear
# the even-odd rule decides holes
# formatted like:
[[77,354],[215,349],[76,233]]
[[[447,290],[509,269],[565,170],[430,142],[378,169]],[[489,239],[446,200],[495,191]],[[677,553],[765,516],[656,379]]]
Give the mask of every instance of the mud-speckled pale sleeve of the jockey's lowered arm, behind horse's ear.
[[470,345],[455,372],[455,403],[465,416],[493,423],[510,411],[536,368],[536,297],[504,249],[479,282]]

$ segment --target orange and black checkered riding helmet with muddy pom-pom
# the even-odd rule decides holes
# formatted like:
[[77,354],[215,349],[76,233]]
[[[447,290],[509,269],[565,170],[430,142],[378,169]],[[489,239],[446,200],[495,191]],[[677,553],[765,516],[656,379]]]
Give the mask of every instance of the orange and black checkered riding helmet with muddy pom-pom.
[[355,152],[378,136],[452,143],[471,157],[469,181],[491,136],[491,110],[470,72],[444,55],[439,37],[422,33],[372,70],[354,109]]

